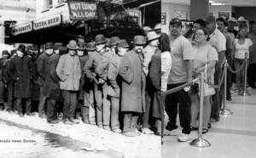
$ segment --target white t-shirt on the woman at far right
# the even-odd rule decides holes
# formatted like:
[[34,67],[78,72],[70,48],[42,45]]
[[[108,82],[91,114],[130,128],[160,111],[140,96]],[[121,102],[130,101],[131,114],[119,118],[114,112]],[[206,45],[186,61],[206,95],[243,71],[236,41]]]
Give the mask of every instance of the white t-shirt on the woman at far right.
[[253,44],[253,42],[248,38],[245,39],[245,42],[242,45],[240,45],[238,43],[238,39],[236,39],[235,42],[234,42],[234,45],[235,45],[235,48],[236,48],[235,58],[236,59],[244,59],[245,53],[246,52],[249,53],[249,47],[252,44]]

